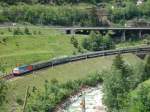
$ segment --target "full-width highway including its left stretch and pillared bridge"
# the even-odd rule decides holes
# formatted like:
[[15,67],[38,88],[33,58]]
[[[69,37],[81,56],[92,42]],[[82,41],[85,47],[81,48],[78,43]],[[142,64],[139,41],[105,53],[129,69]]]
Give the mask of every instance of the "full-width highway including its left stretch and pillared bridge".
[[[2,28],[35,28],[35,26],[1,26]],[[121,34],[118,37],[121,37],[122,41],[125,41],[127,38],[127,34],[135,33],[141,39],[144,34],[150,34],[150,27],[62,27],[62,26],[36,26],[36,28],[40,29],[54,29],[64,31],[66,34],[89,34],[91,31],[99,31],[99,32],[108,32],[112,30],[116,32],[116,34]]]

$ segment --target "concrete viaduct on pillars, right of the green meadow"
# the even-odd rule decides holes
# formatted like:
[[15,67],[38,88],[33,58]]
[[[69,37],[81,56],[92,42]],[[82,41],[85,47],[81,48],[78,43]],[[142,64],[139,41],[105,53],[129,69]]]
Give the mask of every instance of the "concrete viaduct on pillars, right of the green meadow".
[[65,30],[67,34],[76,34],[78,32],[84,31],[120,31],[121,32],[121,40],[126,40],[126,32],[134,31],[138,33],[138,37],[142,38],[142,35],[145,33],[150,34],[150,27],[67,27],[67,28],[56,28]]

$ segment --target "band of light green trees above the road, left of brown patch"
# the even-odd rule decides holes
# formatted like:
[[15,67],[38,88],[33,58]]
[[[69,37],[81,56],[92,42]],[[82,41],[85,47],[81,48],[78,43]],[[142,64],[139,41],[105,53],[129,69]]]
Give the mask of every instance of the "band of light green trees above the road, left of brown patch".
[[44,5],[25,5],[21,4],[17,7],[10,6],[4,8],[1,16],[8,18],[13,22],[29,22],[32,24],[46,25],[90,25],[89,12],[85,9],[80,10],[77,7],[70,6],[44,6]]

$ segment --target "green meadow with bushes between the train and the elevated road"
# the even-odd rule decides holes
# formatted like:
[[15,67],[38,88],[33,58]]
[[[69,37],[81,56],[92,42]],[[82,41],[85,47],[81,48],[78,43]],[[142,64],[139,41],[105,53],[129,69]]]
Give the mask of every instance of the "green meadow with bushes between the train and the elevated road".
[[[26,30],[26,31],[25,31]],[[87,50],[103,50],[124,48],[126,46],[144,46],[145,40],[118,43],[114,45],[111,33],[101,37],[96,36],[66,35],[51,29],[41,27],[2,28],[0,32],[0,66],[5,72],[11,72],[16,65],[30,64],[38,61],[49,60],[61,56],[70,56]],[[86,40],[88,43],[86,45]],[[61,44],[63,42],[63,44]],[[89,48],[88,48],[89,47]]]

